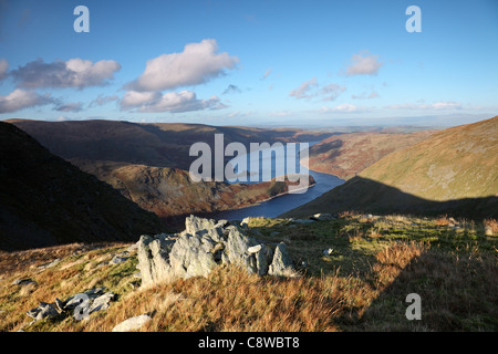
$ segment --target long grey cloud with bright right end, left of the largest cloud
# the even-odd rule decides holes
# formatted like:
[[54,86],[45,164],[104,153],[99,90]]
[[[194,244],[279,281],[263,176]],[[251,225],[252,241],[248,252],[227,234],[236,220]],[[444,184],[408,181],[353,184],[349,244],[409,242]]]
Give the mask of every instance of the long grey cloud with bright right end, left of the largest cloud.
[[89,87],[105,85],[116,71],[120,63],[113,60],[101,60],[96,63],[90,60],[71,59],[66,62],[45,63],[38,59],[10,72],[19,87]]

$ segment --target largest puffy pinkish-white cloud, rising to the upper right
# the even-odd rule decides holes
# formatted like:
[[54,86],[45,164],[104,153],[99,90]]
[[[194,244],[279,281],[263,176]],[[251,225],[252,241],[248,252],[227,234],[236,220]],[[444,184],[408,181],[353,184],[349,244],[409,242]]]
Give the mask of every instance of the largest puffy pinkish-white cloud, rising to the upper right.
[[236,56],[217,53],[216,40],[185,45],[181,53],[163,54],[147,61],[144,73],[127,85],[133,91],[160,91],[197,85],[219,76],[238,63]]

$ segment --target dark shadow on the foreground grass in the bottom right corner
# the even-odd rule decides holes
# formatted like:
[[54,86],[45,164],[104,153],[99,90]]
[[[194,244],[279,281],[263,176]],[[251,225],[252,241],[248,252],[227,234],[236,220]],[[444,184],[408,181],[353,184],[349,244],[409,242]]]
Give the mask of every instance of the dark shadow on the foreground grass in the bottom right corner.
[[[375,277],[375,273],[372,273]],[[344,331],[497,331],[498,267],[492,256],[427,250],[402,270],[361,315],[340,319]],[[408,320],[411,293],[421,296],[421,320]],[[408,313],[412,311],[408,309]]]

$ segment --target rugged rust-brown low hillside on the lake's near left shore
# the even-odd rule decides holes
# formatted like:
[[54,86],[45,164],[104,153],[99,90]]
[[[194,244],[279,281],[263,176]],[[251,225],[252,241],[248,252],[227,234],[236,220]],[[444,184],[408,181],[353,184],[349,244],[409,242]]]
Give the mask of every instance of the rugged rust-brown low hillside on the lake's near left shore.
[[[73,160],[145,210],[155,212],[169,226],[184,222],[191,212],[209,215],[237,209],[288,192],[289,181],[259,184],[194,183],[178,168],[134,164]],[[309,176],[310,186],[314,184]]]

